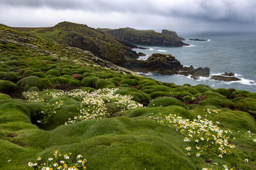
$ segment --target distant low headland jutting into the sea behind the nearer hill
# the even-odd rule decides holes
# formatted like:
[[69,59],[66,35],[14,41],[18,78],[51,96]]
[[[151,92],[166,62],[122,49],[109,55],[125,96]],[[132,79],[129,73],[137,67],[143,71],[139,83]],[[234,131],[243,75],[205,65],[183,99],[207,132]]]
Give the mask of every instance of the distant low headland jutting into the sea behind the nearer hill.
[[100,29],[108,34],[116,36],[123,41],[138,45],[156,46],[183,46],[186,45],[180,39],[170,34],[161,34],[154,30],[136,30],[131,28]]

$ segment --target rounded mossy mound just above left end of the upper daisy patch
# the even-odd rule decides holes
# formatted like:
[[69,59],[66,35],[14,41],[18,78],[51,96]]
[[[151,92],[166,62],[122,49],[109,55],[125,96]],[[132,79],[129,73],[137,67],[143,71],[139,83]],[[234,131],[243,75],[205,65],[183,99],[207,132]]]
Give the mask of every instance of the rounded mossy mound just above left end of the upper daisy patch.
[[42,80],[37,76],[28,76],[24,77],[17,82],[18,86],[25,87],[25,90],[28,90],[30,87],[42,88]]

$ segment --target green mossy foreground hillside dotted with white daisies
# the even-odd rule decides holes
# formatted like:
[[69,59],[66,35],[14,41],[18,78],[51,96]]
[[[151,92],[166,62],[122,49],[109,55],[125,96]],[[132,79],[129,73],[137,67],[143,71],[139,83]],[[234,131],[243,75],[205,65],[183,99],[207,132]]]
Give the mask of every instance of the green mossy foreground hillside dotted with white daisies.
[[255,93],[155,81],[4,25],[0,78],[1,169],[256,168]]

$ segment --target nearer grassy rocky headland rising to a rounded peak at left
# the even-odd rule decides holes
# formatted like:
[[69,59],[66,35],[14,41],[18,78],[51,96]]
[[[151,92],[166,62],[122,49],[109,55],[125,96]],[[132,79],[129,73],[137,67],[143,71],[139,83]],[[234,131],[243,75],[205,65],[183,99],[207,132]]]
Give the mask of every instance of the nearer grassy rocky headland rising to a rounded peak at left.
[[138,54],[115,36],[83,24],[60,22],[54,27],[29,29],[42,38],[88,50],[101,59],[120,65],[126,59],[138,59]]

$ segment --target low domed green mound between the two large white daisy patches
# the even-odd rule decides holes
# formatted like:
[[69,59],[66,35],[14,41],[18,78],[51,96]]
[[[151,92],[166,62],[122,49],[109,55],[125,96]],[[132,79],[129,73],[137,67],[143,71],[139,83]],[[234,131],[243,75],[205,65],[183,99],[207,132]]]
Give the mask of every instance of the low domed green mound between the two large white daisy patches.
[[174,97],[157,97],[156,99],[154,99],[148,104],[148,108],[159,107],[159,106],[164,107],[164,106],[171,106],[171,105],[187,108],[187,106],[184,103],[182,103],[182,101],[179,101]]

